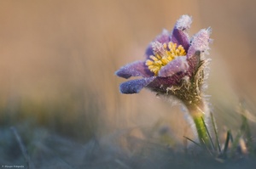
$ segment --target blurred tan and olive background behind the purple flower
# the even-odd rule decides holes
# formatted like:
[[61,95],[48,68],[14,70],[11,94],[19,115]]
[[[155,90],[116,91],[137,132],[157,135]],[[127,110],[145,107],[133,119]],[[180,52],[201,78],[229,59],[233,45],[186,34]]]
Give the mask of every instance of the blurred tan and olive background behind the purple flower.
[[144,59],[148,43],[182,14],[193,17],[190,36],[212,27],[211,109],[220,129],[239,127],[239,100],[255,109],[254,6],[250,0],[1,1],[0,127],[44,127],[81,144],[162,124],[177,142],[193,137],[180,106],[145,89],[120,94],[125,80],[114,75]]

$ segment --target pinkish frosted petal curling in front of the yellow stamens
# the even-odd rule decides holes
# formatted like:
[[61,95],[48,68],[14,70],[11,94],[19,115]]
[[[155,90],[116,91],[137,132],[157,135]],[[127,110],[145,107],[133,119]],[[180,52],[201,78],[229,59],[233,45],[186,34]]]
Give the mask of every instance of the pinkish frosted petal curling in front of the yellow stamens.
[[166,66],[162,67],[158,76],[166,77],[172,76],[177,72],[186,72],[189,70],[189,64],[186,56],[179,56],[176,59],[169,62]]

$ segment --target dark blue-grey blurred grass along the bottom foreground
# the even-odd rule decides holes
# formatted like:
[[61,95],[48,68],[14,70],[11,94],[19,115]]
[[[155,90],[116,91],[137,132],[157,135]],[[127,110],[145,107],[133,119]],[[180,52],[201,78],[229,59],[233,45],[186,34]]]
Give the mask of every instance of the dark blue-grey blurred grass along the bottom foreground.
[[[134,131],[143,133],[143,137],[142,134],[134,134]],[[256,166],[255,156],[242,154],[239,146],[236,154],[223,157],[212,155],[195,144],[188,149],[184,149],[183,145],[167,148],[149,141],[147,137],[142,128],[136,128],[115,132],[108,137],[91,138],[89,142],[79,144],[42,127],[5,127],[0,130],[0,166],[7,168],[16,165],[30,169],[236,169]]]

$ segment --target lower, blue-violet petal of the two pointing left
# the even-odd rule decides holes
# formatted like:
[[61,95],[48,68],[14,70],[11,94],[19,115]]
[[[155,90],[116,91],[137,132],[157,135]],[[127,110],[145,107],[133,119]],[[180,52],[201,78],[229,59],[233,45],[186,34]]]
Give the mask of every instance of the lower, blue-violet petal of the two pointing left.
[[126,94],[139,93],[143,87],[146,87],[150,82],[154,81],[156,77],[148,77],[143,79],[131,80],[120,84],[120,92]]

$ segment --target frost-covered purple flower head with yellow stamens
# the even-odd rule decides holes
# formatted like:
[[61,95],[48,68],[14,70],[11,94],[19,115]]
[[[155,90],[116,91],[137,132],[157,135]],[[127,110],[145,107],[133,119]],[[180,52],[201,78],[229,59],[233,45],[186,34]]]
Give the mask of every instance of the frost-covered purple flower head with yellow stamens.
[[209,49],[211,29],[202,29],[189,38],[187,32],[191,23],[189,15],[181,16],[171,33],[164,30],[149,44],[144,61],[133,62],[117,70],[116,75],[126,79],[143,77],[121,83],[120,92],[139,93],[143,87],[162,94],[174,94],[182,87],[195,91],[197,83],[203,79],[201,66],[204,59],[201,54]]

